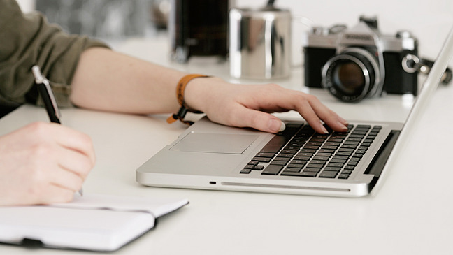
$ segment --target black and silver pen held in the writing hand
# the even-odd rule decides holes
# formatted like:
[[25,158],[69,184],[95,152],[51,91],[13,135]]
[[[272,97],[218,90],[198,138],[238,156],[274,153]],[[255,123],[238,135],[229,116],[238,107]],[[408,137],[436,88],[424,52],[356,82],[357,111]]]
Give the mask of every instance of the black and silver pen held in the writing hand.
[[[50,87],[49,80],[41,73],[41,68],[39,66],[33,66],[31,72],[35,78],[35,84],[38,86],[39,94],[41,94],[41,99],[43,99],[45,110],[47,110],[50,122],[62,124],[60,122],[60,111],[57,105],[57,100],[55,100],[55,95],[52,92],[52,87]],[[80,196],[83,196],[83,190],[78,191]]]

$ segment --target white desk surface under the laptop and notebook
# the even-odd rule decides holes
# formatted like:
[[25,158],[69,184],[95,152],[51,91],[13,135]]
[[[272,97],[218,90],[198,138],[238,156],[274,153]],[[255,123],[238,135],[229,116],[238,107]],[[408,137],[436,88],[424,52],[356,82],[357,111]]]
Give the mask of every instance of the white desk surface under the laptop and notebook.
[[[148,43],[129,41],[120,50],[137,45]],[[185,68],[228,78],[225,64]],[[299,87],[299,74],[294,71],[290,80],[278,83]],[[310,92],[346,119],[402,122],[408,114],[400,96],[347,104],[319,89]],[[426,124],[413,127],[413,139],[380,190],[364,198],[143,187],[135,182],[136,168],[171,143],[185,129],[183,124],[168,125],[166,116],[79,109],[62,110],[62,122],[94,140],[97,163],[84,185],[86,193],[189,198],[189,205],[161,218],[157,228],[113,254],[452,254],[452,99],[452,85],[438,89],[424,113]],[[45,110],[23,106],[0,119],[0,133],[36,120],[47,121]],[[29,253],[64,252],[0,245],[0,254]]]

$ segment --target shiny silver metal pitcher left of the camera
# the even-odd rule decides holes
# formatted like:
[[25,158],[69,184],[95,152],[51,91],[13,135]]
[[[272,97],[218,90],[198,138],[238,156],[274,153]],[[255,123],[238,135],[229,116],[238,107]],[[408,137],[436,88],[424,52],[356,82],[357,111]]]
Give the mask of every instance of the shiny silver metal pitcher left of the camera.
[[229,12],[230,75],[287,78],[291,64],[291,13],[266,6]]

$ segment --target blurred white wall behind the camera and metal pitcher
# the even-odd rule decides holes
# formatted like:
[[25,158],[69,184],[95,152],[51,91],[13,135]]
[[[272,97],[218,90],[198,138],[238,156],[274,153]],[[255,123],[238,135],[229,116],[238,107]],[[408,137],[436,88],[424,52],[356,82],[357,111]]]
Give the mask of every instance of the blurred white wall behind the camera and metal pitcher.
[[[238,7],[259,8],[265,3],[266,0],[236,0]],[[336,23],[351,27],[360,15],[377,16],[383,34],[411,31],[419,39],[419,54],[431,59],[436,58],[453,27],[453,0],[275,0],[275,5],[326,27]],[[299,35],[307,28],[296,23],[293,27],[294,44],[300,45]]]

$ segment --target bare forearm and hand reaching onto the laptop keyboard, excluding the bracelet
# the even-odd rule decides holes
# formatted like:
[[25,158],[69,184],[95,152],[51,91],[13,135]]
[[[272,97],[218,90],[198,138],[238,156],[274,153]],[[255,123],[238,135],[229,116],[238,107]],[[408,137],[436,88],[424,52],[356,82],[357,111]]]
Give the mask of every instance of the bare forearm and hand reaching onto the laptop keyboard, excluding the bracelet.
[[[187,75],[103,48],[82,53],[72,82],[71,101],[95,110],[152,114],[176,112],[178,81]],[[345,131],[345,120],[315,96],[278,85],[234,85],[220,78],[196,78],[184,93],[185,106],[200,110],[214,122],[261,131],[284,129],[266,112],[297,110],[320,133],[321,119],[333,130]]]

